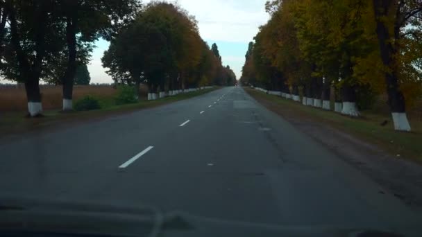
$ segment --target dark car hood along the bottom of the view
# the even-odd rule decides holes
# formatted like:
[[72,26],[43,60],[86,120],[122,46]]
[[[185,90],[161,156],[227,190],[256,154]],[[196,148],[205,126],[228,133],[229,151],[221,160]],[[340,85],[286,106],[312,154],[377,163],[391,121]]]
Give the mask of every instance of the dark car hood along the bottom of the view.
[[400,236],[367,227],[278,226],[97,202],[0,200],[0,236]]

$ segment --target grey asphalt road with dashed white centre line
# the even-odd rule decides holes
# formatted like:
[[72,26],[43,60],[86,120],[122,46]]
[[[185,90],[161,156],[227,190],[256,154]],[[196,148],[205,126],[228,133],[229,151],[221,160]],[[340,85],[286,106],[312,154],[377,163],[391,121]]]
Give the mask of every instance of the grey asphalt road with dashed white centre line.
[[413,231],[400,200],[240,87],[0,145],[1,195]]

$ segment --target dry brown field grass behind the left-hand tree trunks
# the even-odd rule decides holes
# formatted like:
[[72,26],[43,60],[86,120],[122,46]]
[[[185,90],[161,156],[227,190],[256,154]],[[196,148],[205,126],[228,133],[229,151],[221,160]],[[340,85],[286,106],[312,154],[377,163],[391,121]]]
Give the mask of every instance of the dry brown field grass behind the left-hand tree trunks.
[[[142,87],[142,94],[146,94],[146,88]],[[42,85],[42,107],[45,110],[60,109],[62,107],[62,87]],[[116,89],[110,85],[75,86],[74,100],[83,96],[92,95],[98,98],[112,98]],[[18,112],[26,111],[27,100],[24,87],[0,85],[0,111]]]

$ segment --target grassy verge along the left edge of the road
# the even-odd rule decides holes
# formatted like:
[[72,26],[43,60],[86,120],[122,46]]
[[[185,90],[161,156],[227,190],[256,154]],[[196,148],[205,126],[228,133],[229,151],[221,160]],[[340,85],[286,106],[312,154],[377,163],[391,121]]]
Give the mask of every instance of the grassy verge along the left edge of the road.
[[159,100],[142,100],[138,103],[128,105],[114,105],[114,103],[112,103],[114,98],[99,97],[101,109],[65,113],[60,112],[60,110],[49,110],[44,112],[44,116],[31,119],[26,117],[26,112],[3,113],[0,114],[0,137],[19,132],[30,132],[40,128],[50,128],[52,125],[67,125],[69,123],[78,123],[90,119],[100,119],[104,116],[119,115],[140,109],[158,107],[160,105],[174,103],[179,100],[200,96],[216,89],[219,89],[219,87],[178,94],[176,96],[169,96]]

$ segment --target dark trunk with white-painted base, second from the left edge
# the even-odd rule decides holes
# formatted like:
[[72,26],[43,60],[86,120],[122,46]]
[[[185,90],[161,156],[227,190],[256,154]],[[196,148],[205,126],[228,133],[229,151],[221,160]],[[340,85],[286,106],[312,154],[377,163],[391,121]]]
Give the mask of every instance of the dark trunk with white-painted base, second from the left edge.
[[73,109],[72,98],[74,91],[74,78],[76,73],[76,17],[67,16],[66,41],[69,58],[67,69],[63,77],[63,111]]

